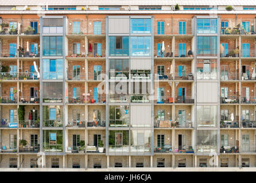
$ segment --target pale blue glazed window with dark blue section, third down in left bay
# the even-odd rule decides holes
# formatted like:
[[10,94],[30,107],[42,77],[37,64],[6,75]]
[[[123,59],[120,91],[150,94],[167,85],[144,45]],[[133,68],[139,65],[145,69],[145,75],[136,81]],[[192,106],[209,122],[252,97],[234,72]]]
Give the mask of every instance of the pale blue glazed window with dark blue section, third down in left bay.
[[42,59],[43,79],[63,79],[63,59]]

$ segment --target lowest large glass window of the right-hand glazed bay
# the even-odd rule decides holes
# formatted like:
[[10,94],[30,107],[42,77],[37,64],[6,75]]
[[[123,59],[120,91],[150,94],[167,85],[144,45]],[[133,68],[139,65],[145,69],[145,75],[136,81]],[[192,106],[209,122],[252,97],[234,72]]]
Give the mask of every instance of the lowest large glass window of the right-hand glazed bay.
[[217,130],[197,130],[197,152],[210,153],[217,151]]

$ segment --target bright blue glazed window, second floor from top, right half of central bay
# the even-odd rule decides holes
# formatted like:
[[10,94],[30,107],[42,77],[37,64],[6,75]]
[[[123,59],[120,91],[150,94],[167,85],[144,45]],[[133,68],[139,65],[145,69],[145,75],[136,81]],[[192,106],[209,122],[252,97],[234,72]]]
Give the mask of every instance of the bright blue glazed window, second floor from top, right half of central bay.
[[131,56],[150,56],[150,37],[131,37]]

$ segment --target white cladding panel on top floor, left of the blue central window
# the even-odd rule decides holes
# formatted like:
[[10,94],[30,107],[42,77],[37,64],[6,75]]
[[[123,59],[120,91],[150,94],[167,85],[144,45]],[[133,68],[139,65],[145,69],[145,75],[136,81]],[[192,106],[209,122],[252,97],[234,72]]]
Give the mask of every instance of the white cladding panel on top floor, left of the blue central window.
[[109,18],[109,34],[129,34],[129,18]]

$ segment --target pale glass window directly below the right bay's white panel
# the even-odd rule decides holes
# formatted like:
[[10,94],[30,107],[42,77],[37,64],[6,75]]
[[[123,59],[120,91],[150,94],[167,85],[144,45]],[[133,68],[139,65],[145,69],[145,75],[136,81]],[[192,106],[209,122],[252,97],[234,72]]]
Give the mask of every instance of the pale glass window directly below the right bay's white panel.
[[197,108],[197,127],[217,126],[217,106],[199,105]]

